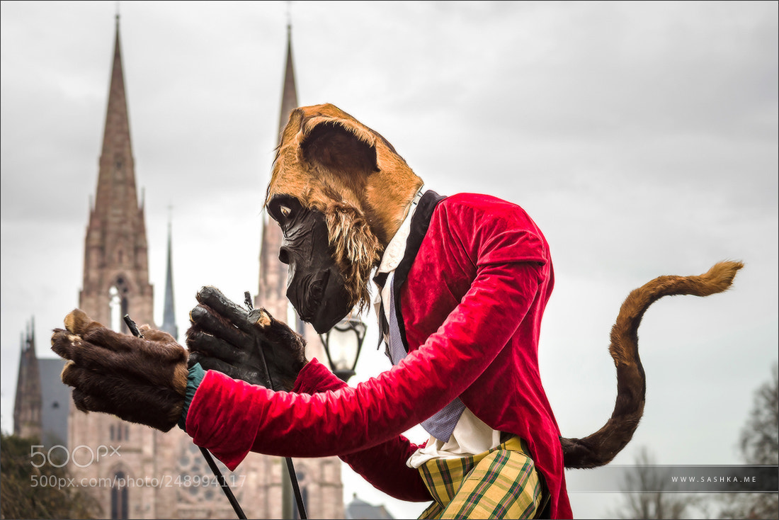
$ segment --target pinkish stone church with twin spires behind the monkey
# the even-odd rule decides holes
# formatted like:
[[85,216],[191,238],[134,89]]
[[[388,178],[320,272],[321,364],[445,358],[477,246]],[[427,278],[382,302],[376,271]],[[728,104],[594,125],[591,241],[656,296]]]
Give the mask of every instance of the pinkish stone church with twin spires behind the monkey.
[[[280,127],[297,105],[290,34],[287,34],[287,68],[282,94]],[[263,224],[257,306],[287,317],[286,266],[277,260],[280,246],[277,225]],[[130,139],[122,51],[116,21],[115,48],[100,154],[97,194],[86,229],[83,288],[79,308],[94,320],[128,332],[119,317],[129,314],[138,324],[154,325],[153,285],[149,280],[148,246],[143,201],[139,203]],[[165,319],[161,328],[175,334],[172,317],[172,272],[168,237]],[[168,298],[170,295],[170,298]],[[170,307],[170,308],[168,308]],[[172,319],[172,318],[171,318]],[[282,318],[284,319],[284,318]],[[323,357],[319,336],[298,323],[308,341],[308,357]],[[31,354],[30,354],[30,345]],[[27,353],[25,354],[25,348]],[[25,357],[26,356],[26,357]],[[24,434],[41,437],[41,366],[34,363],[34,338],[23,338],[23,359],[17,381],[16,425]],[[44,361],[39,359],[40,361]],[[60,360],[52,360],[59,363]],[[58,392],[62,395],[63,389]],[[235,513],[199,449],[186,433],[174,427],[161,433],[126,423],[102,413],[76,410],[72,399],[61,398],[67,408],[66,433],[69,472],[76,483],[86,483],[100,504],[100,518],[235,518]],[[46,403],[44,402],[44,408]],[[21,432],[21,430],[19,430]],[[65,445],[64,444],[64,445]],[[295,459],[295,470],[309,518],[344,518],[343,484],[338,458]],[[218,463],[249,518],[295,518],[284,459],[249,454],[235,472]]]

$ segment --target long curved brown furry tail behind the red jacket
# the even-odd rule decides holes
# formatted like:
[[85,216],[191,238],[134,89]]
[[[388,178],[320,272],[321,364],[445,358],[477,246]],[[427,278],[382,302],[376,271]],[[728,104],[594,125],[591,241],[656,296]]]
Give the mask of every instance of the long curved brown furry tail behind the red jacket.
[[628,444],[643,415],[647,381],[638,356],[638,327],[649,306],[668,295],[708,296],[729,288],[741,262],[720,262],[700,276],[661,276],[631,292],[612,327],[609,352],[617,367],[617,401],[608,422],[583,439],[560,437],[566,468],[608,464]]

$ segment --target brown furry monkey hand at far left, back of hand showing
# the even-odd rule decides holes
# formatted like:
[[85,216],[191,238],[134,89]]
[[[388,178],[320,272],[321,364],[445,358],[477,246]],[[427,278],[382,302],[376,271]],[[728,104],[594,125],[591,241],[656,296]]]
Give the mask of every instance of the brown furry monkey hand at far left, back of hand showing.
[[187,351],[148,325],[144,338],[111,331],[73,310],[55,329],[51,350],[69,359],[62,382],[82,412],[106,412],[167,432],[178,422],[187,386]]

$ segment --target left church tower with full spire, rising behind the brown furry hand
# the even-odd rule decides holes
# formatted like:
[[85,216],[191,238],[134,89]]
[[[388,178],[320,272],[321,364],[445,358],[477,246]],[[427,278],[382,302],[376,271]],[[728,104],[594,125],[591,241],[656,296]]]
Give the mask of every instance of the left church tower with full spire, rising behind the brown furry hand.
[[[106,327],[129,333],[122,320],[125,314],[138,324],[154,326],[153,287],[143,203],[139,204],[136,190],[118,15],[110,84],[97,194],[86,228],[79,308]],[[160,511],[157,490],[127,485],[128,479],[155,473],[159,432],[108,414],[79,412],[72,401],[69,408],[69,470],[77,479],[117,483],[90,486],[100,514],[104,518],[166,515],[167,511]],[[113,457],[97,458],[98,451]]]

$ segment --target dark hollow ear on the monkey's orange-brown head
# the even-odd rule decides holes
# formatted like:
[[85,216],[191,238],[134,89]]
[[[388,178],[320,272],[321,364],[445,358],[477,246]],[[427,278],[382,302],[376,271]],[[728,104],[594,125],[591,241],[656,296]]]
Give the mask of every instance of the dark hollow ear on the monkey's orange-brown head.
[[326,119],[304,129],[300,157],[308,164],[353,175],[379,171],[374,138],[349,121]]

